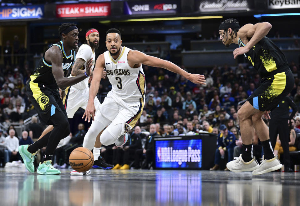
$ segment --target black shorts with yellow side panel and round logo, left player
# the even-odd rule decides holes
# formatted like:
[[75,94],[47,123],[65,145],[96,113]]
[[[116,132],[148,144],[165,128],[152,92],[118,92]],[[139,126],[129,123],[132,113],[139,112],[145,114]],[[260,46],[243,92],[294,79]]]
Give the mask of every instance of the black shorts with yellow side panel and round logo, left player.
[[38,112],[38,117],[42,124],[52,124],[49,119],[55,112],[62,111],[67,117],[67,112],[57,89],[52,89],[30,80],[26,84],[26,89],[28,98]]

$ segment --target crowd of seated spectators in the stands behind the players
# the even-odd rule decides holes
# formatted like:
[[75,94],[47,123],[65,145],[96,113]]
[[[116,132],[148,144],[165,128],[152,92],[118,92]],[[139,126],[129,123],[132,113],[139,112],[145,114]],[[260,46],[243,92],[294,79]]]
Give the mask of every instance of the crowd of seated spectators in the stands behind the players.
[[[22,125],[24,119],[36,114],[25,88],[26,82],[33,73],[33,68],[30,68],[23,60],[21,62],[20,60],[7,60],[5,65],[0,66],[0,123],[6,128],[13,123]],[[289,66],[295,77],[295,86],[290,97],[300,108],[299,65],[291,62]],[[180,67],[188,71],[184,65],[180,65]],[[162,68],[143,65],[143,70],[146,77],[145,106],[137,126],[141,131],[149,132],[150,125],[155,125],[155,135],[160,136],[197,135],[200,132],[217,135],[223,124],[228,131],[233,129],[235,133],[233,131],[232,133],[238,135],[237,110],[261,81],[257,72],[248,64],[216,65],[206,70],[201,69],[199,73],[206,77],[204,86],[194,84],[186,78]],[[111,86],[107,79],[101,81],[99,93],[105,94],[110,89]],[[296,119],[295,124],[296,127],[300,125],[300,120]],[[28,129],[28,132],[32,133],[34,130]],[[29,134],[29,138],[37,139],[41,131],[42,129],[36,134]],[[9,136],[8,133],[9,130],[7,131]],[[14,136],[21,139],[21,136],[17,134]],[[142,139],[149,138],[147,136]],[[239,137],[236,136],[237,146],[240,146],[239,141]],[[130,145],[127,146],[130,148]],[[133,155],[135,152],[130,151],[129,148],[124,148],[124,156],[135,156]],[[143,153],[146,153],[144,149],[147,150],[145,146],[139,146],[136,149],[138,151],[136,159],[142,149]],[[106,150],[108,153],[109,149]],[[126,155],[126,151],[130,155]],[[119,156],[123,157],[122,152],[119,153]],[[14,154],[13,151],[12,154]],[[124,159],[113,161],[119,165],[129,164],[128,160],[125,160],[124,163]],[[135,167],[140,166],[136,165]]]

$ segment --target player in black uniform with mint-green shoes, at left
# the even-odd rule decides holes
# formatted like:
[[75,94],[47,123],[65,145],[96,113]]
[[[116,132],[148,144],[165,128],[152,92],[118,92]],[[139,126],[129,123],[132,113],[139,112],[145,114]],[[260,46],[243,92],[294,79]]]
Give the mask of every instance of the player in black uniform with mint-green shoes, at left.
[[[66,78],[75,60],[78,48],[78,29],[76,24],[63,23],[58,28],[61,41],[51,45],[44,53],[30,76],[26,88],[28,98],[38,112],[43,124],[52,124],[54,129],[32,145],[19,146],[19,153],[29,172],[34,172],[35,153],[47,146],[43,163],[38,166],[39,174],[56,175],[60,171],[51,165],[51,157],[59,141],[70,134],[70,125],[64,109],[59,88],[74,85],[91,74],[92,59],[87,62],[86,71],[76,77]],[[61,94],[64,96],[64,92]]]

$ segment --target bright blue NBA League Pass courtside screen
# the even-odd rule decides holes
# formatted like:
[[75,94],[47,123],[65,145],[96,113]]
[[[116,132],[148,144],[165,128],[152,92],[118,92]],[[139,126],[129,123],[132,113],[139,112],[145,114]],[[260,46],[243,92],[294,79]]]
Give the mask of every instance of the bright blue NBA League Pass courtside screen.
[[201,168],[202,140],[155,141],[156,168]]

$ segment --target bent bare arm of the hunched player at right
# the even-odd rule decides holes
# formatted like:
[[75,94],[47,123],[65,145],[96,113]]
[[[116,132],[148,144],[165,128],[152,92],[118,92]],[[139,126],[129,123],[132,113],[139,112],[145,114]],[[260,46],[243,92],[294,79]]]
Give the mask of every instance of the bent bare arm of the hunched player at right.
[[272,25],[268,22],[262,22],[257,24],[246,24],[239,29],[239,37],[243,39],[243,37],[251,38],[245,47],[236,48],[233,51],[233,58],[236,59],[238,55],[247,53],[254,45],[257,44],[264,36],[266,36]]

